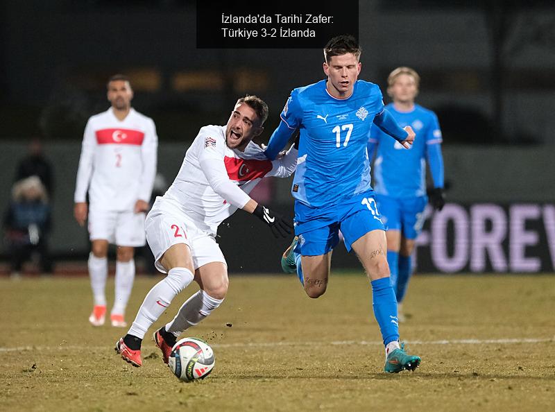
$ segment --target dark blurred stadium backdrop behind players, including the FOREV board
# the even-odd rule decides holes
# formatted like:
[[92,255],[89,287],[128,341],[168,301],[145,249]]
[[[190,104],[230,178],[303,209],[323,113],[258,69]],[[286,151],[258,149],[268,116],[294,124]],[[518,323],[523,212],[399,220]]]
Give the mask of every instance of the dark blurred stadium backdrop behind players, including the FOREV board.
[[[413,67],[422,77],[418,103],[436,111],[443,129],[448,205],[427,218],[417,271],[552,273],[555,6],[470,3],[359,1],[361,78],[385,89],[391,69]],[[55,181],[55,274],[86,273],[87,233],[72,216],[75,175],[85,122],[108,108],[110,75],[130,76],[134,107],[154,119],[167,184],[198,129],[224,124],[238,96],[268,102],[266,141],[290,90],[323,78],[316,49],[196,49],[193,1],[4,0],[0,7],[0,209],[17,163],[40,137]],[[256,196],[290,212],[289,187],[273,180]],[[248,216],[237,213],[220,235],[230,273],[279,270],[288,242],[276,244]],[[334,268],[355,267],[339,247]],[[4,243],[0,273],[9,273]]]

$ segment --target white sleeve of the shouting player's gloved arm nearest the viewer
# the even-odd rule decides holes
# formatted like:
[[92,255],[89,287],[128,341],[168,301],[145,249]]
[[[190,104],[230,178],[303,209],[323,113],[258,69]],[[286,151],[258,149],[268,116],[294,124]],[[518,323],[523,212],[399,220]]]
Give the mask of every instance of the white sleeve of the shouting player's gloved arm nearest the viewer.
[[224,142],[221,138],[211,137],[208,133],[199,133],[202,144],[201,153],[198,157],[200,169],[206,176],[212,190],[235,207],[242,209],[250,200],[248,194],[237,187],[228,176],[225,170],[223,157],[225,155]]

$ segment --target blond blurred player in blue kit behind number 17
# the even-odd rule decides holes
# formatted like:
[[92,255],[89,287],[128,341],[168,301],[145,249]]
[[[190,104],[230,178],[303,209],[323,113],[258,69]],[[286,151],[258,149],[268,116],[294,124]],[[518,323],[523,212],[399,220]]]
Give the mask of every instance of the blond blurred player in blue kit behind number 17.
[[443,157],[438,118],[431,110],[414,103],[420,76],[409,67],[398,67],[387,79],[393,103],[386,106],[400,126],[411,126],[418,139],[410,150],[373,126],[368,139],[368,158],[374,162],[374,190],[382,221],[386,225],[387,261],[398,302],[399,320],[404,320],[402,301],[412,273],[411,254],[424,222],[426,161],[434,180],[430,201],[436,210],[445,205]]

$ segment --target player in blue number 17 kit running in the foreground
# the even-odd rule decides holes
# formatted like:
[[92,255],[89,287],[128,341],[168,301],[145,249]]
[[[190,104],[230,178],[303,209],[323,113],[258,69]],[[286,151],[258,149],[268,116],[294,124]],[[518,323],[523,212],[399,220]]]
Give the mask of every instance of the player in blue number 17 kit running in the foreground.
[[366,143],[374,123],[409,148],[415,134],[400,128],[384,110],[382,92],[357,80],[361,49],[355,37],[340,35],[324,49],[324,73],[313,85],[293,89],[273,132],[266,156],[273,160],[295,130],[300,130],[295,198],[296,238],[282,266],[296,272],[311,298],[325,293],[332,250],[339,242],[355,250],[373,290],[373,308],[386,347],[386,372],[414,370],[420,358],[399,345],[397,301],[389,280],[386,236],[370,187]]

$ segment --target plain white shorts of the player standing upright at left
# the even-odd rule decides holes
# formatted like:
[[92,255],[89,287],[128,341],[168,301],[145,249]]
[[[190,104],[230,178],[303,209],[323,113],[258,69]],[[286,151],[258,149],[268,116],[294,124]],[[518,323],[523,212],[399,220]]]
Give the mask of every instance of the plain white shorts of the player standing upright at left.
[[105,239],[117,246],[144,246],[144,213],[89,209],[89,239]]

